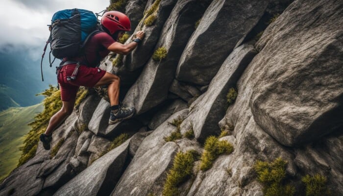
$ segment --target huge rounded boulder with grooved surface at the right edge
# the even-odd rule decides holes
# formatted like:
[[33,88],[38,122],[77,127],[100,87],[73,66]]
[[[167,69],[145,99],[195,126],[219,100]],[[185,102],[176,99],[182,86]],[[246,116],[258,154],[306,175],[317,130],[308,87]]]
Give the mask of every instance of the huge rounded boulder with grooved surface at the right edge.
[[251,110],[283,145],[311,142],[343,125],[342,4],[295,1],[257,43]]

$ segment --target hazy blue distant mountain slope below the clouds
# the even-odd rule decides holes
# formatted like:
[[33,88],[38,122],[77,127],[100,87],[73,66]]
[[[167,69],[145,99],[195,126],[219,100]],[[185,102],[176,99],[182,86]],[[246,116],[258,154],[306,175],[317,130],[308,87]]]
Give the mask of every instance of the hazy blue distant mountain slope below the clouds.
[[[32,60],[26,51],[4,51],[0,49],[0,96],[8,101],[12,98],[21,106],[30,106],[43,100],[36,94],[49,88],[49,84],[56,85],[55,69],[49,68],[48,58],[43,62],[45,81],[42,82],[40,73],[40,59]],[[56,61],[57,62],[57,61]],[[6,89],[3,92],[3,88]],[[7,97],[8,96],[8,97]],[[8,108],[13,105],[5,105],[1,102],[0,108]]]

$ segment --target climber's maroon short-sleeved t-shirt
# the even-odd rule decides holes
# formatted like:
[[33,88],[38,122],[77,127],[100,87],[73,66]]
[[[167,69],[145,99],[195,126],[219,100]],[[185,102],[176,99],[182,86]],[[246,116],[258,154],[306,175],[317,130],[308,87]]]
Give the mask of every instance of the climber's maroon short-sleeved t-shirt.
[[[95,34],[87,42],[84,48],[84,56],[70,58],[72,61],[79,61],[89,67],[97,67],[102,58],[107,56],[110,51],[107,49],[116,41],[106,32]],[[88,62],[88,63],[87,63]]]

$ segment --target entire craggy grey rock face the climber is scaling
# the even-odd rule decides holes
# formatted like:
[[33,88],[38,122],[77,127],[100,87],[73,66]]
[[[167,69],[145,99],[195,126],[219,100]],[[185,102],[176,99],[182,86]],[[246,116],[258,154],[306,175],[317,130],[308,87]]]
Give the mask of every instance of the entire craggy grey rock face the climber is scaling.
[[[281,157],[294,196],[306,195],[306,174],[342,196],[343,1],[291,1],[160,1],[139,47],[120,66],[113,54],[100,65],[122,78],[121,100],[138,114],[109,125],[109,103],[91,93],[53,132],[55,149],[39,143],[0,196],[163,196],[175,155],[203,153],[221,130],[233,152],[207,171],[196,159],[177,195],[264,196],[254,165]],[[135,31],[155,2],[126,1]],[[153,61],[159,47],[167,57]]]

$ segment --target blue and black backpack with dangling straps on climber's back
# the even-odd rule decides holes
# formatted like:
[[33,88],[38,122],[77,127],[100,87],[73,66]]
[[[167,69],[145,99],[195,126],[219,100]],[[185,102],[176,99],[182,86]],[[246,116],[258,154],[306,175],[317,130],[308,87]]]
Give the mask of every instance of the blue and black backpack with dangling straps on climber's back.
[[[45,51],[50,43],[49,62],[50,67],[55,58],[63,59],[65,57],[75,57],[82,55],[83,47],[89,38],[101,32],[97,16],[89,10],[84,9],[65,9],[56,12],[51,19],[49,26],[50,36],[44,48],[41,61],[42,64]],[[50,54],[55,57],[51,62]]]

